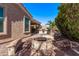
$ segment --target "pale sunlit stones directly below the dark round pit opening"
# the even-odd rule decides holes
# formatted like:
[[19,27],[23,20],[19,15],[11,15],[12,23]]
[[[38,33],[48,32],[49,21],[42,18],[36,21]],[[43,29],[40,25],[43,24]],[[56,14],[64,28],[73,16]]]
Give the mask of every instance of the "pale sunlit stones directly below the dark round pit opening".
[[54,49],[53,48],[54,46],[51,40],[46,41],[32,40],[31,55],[45,55],[45,56],[55,55],[54,52],[55,48]]

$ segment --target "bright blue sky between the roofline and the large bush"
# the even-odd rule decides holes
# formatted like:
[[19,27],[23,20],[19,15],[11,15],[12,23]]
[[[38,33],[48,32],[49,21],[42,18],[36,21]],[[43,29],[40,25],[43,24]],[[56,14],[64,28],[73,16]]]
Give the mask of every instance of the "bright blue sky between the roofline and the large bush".
[[55,20],[60,3],[23,3],[34,19],[42,24]]

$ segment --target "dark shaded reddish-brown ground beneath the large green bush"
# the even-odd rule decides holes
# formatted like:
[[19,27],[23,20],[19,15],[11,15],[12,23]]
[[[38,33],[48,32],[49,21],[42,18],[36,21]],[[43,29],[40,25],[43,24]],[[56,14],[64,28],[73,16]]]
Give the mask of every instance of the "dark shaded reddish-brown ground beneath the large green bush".
[[56,56],[79,56],[79,43],[70,41],[60,33],[54,34],[54,46],[58,48],[55,50]]

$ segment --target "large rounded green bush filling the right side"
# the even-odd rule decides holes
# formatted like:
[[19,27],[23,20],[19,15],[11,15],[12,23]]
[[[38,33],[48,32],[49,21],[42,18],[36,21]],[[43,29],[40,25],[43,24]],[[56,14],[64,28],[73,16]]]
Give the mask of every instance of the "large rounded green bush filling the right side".
[[58,9],[55,22],[60,32],[71,39],[79,40],[79,4],[61,4]]

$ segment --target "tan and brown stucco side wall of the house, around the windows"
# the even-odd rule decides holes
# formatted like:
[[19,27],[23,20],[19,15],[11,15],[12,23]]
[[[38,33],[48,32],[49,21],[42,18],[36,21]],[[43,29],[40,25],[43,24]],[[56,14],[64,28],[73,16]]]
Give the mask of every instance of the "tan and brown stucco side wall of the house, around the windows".
[[31,20],[31,17],[23,11],[18,4],[0,4],[5,11],[5,32],[0,33],[0,43],[12,40],[21,39],[30,35],[23,33],[23,17],[26,16]]

